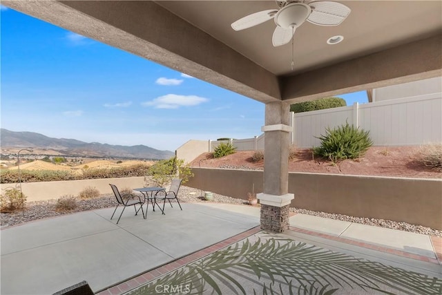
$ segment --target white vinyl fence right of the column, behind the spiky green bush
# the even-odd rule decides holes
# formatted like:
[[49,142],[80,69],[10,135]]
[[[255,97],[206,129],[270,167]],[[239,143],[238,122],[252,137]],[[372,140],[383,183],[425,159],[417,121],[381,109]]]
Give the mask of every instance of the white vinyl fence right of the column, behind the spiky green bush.
[[441,93],[294,114],[293,142],[318,146],[325,129],[353,124],[369,131],[375,146],[442,142]]

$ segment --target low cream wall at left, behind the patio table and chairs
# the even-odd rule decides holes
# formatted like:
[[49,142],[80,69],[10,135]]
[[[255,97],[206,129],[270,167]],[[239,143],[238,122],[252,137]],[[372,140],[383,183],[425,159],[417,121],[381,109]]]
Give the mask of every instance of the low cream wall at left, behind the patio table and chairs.
[[[57,199],[64,195],[78,196],[86,187],[95,187],[100,193],[113,193],[109,184],[115,184],[119,189],[130,187],[144,187],[144,177],[131,178],[106,178],[90,180],[66,180],[51,182],[24,182],[21,190],[27,197],[28,202]],[[18,184],[0,184],[1,193],[8,189],[19,188]]]

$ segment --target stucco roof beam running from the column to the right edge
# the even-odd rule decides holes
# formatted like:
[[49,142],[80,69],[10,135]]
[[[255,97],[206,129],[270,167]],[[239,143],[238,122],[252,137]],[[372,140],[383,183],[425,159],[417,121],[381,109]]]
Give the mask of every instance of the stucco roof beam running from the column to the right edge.
[[442,35],[280,79],[291,103],[442,75]]

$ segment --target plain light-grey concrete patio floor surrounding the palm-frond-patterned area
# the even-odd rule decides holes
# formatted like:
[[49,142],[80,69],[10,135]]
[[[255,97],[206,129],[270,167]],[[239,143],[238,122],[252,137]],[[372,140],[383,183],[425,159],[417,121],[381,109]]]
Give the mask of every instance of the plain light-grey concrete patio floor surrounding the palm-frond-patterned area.
[[[206,255],[244,231],[259,231],[258,207],[182,205],[183,211],[166,208],[165,216],[150,208],[146,220],[128,208],[118,225],[108,208],[3,229],[0,292],[52,294],[87,280],[94,292],[122,294],[128,291],[123,282],[132,279],[137,287],[136,278],[153,269],[169,269],[171,263],[189,261],[189,254]],[[303,214],[292,216],[290,225],[285,234],[296,240],[442,277],[440,249],[429,236]]]

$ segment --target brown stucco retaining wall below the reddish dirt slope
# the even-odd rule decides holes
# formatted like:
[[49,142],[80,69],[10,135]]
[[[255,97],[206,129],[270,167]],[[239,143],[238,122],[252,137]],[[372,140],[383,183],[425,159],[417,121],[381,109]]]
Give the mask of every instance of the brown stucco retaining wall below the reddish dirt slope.
[[[254,184],[262,192],[262,171],[193,168],[186,184],[247,199]],[[292,207],[349,216],[403,221],[442,230],[442,180],[358,175],[289,173]]]

